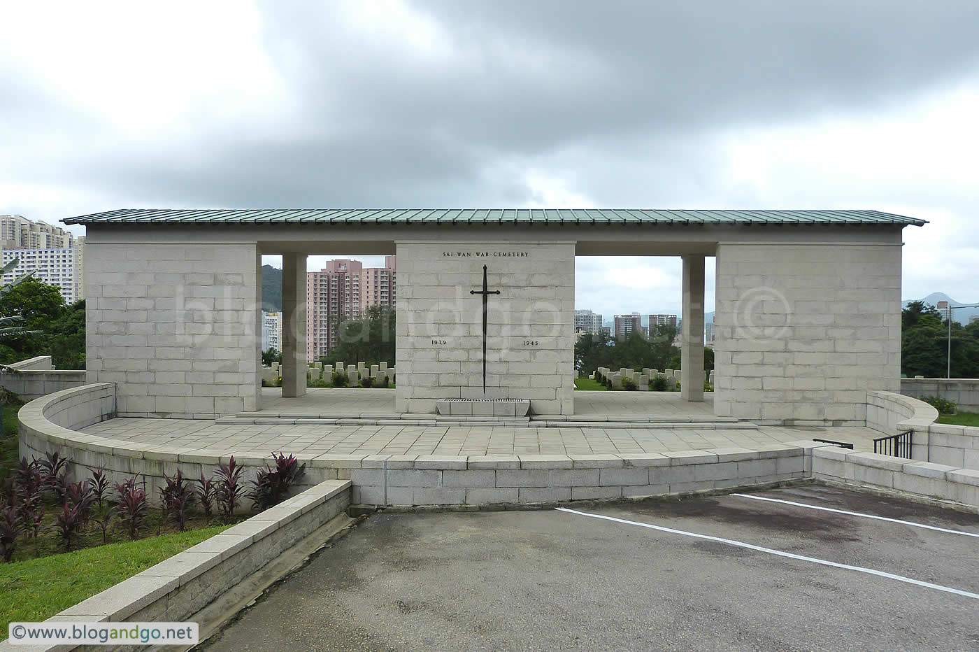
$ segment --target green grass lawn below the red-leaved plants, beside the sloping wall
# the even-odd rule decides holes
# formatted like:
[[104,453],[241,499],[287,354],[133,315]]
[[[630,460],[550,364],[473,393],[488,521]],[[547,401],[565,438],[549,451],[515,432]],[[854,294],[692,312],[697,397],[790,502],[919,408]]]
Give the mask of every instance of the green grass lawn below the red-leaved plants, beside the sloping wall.
[[50,618],[229,527],[191,530],[12,564],[0,563],[0,637],[7,637],[11,622]]

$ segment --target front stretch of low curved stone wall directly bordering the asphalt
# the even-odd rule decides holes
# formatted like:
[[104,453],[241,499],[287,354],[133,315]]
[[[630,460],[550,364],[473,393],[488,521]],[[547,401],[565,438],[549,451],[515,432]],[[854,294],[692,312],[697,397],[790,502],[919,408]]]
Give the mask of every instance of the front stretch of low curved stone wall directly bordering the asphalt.
[[806,448],[813,445],[634,455],[372,455],[340,473],[350,474],[353,501],[361,504],[549,503],[798,480],[807,475]]

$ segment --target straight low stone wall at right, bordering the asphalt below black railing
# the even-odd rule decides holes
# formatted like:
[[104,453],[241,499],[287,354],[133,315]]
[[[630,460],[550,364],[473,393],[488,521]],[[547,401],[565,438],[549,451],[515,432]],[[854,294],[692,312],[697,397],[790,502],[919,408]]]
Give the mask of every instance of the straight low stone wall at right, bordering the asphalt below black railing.
[[835,446],[814,448],[816,480],[921,498],[949,500],[979,508],[979,471],[904,460],[889,455],[848,452]]

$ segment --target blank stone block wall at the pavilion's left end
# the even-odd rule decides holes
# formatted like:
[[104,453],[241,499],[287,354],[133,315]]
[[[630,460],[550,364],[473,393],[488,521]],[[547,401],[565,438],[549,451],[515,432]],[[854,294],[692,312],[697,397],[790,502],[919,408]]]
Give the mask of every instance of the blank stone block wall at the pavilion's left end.
[[119,416],[213,418],[260,406],[256,244],[86,242],[89,383]]

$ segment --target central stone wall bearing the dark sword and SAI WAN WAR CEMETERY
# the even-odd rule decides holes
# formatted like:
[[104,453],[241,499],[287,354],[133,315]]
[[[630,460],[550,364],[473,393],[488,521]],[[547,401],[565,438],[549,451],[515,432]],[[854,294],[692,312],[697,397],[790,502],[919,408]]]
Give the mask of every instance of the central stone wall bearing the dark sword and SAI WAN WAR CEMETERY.
[[[440,398],[527,398],[574,413],[574,243],[397,243],[396,409]],[[483,288],[489,296],[483,391]]]

